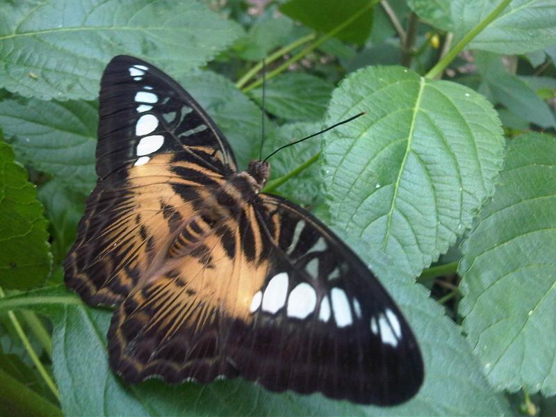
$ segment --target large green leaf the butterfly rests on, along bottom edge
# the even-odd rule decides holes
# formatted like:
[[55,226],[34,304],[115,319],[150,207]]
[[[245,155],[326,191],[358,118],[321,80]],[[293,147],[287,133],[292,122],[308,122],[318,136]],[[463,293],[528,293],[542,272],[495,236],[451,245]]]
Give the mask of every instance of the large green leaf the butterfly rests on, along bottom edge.
[[[353,241],[352,241],[353,243]],[[359,249],[364,251],[363,245]],[[373,268],[398,301],[425,357],[425,385],[399,407],[359,407],[321,395],[270,393],[242,379],[207,385],[169,386],[158,380],[129,386],[111,372],[106,331],[111,312],[91,309],[63,288],[47,288],[0,300],[0,312],[33,309],[54,323],[53,362],[66,415],[302,415],[414,416],[500,415],[507,404],[491,390],[479,363],[424,288],[380,257]],[[442,341],[442,343],[439,343]]]

